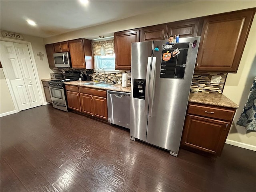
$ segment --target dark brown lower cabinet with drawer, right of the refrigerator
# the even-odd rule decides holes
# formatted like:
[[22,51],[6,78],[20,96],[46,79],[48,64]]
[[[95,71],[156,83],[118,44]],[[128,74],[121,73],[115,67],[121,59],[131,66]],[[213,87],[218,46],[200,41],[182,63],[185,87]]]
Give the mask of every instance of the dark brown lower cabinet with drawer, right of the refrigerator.
[[190,103],[181,147],[220,156],[235,112],[235,108]]

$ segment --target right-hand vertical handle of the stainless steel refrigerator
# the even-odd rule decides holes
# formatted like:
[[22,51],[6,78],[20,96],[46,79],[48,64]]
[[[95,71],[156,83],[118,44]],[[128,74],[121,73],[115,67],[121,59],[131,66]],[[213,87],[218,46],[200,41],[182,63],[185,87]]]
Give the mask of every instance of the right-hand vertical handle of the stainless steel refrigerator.
[[149,93],[149,109],[148,116],[152,115],[152,108],[154,103],[154,92],[155,92],[155,72],[156,72],[156,57],[152,59],[152,69],[151,69],[151,77],[150,77],[150,93]]

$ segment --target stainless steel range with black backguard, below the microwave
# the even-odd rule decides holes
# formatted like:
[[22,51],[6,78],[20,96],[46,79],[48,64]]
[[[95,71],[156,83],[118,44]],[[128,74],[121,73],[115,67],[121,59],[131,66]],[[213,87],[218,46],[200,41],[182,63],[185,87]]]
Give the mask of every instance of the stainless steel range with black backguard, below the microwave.
[[68,112],[64,82],[77,81],[79,79],[79,74],[80,72],[68,71],[65,72],[65,79],[56,79],[48,82],[52,98],[52,106],[54,108]]

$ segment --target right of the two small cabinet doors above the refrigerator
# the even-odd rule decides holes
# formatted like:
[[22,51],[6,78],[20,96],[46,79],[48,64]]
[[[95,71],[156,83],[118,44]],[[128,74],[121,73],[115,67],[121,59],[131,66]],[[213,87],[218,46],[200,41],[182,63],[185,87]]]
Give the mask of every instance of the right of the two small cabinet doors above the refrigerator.
[[[168,23],[167,36],[179,35],[182,37],[193,37],[200,35],[200,19],[189,19],[184,21],[177,21]],[[167,37],[168,38],[168,37]]]

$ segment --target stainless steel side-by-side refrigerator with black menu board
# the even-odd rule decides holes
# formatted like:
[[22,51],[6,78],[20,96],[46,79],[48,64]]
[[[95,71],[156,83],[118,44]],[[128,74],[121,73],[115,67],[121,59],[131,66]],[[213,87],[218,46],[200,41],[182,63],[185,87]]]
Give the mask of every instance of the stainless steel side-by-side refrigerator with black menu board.
[[130,139],[178,156],[200,37],[132,43]]

